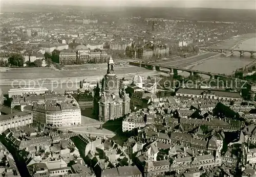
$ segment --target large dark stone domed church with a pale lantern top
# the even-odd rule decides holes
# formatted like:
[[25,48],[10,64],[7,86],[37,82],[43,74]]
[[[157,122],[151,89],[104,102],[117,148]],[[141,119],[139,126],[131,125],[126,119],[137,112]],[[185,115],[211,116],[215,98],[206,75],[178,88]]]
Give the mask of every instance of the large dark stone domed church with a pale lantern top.
[[100,121],[113,120],[130,112],[129,94],[119,87],[120,81],[114,72],[114,61],[110,57],[101,86],[98,82],[94,90],[94,115]]

